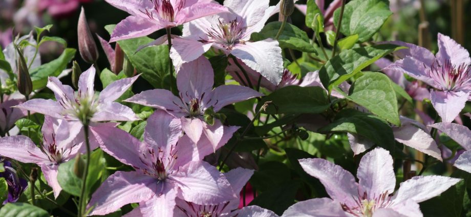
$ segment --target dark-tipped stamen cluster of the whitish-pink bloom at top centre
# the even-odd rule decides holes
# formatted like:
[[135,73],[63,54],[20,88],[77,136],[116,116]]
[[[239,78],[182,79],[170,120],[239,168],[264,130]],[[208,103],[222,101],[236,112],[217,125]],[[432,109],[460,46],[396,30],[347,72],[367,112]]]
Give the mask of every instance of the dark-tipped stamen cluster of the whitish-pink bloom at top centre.
[[230,22],[222,22],[207,29],[208,40],[200,40],[203,43],[218,43],[226,50],[232,50],[235,44],[244,43],[242,39],[247,28],[237,19]]

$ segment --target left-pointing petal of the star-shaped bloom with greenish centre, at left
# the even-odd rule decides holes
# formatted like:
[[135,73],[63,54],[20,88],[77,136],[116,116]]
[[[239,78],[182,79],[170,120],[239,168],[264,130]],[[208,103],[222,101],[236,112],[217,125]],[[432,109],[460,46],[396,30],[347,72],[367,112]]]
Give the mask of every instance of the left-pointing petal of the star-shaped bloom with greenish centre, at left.
[[46,114],[55,118],[63,118],[61,115],[63,108],[54,100],[32,99],[17,105],[16,108]]

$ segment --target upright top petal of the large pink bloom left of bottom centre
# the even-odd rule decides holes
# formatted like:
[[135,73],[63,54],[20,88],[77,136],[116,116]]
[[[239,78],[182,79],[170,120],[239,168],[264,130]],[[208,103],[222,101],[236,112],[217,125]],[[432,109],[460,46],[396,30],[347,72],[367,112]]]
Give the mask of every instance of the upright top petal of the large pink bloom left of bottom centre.
[[[165,111],[155,111],[147,118],[144,141],[155,148],[170,149],[182,135],[181,120]],[[169,153],[167,151],[166,153]]]

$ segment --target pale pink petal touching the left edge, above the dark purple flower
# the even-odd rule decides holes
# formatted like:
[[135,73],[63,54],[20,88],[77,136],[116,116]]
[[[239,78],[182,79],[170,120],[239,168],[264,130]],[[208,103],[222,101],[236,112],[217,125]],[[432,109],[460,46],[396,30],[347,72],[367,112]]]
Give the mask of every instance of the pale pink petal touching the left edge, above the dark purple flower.
[[48,157],[26,136],[0,138],[0,155],[23,163],[50,163]]

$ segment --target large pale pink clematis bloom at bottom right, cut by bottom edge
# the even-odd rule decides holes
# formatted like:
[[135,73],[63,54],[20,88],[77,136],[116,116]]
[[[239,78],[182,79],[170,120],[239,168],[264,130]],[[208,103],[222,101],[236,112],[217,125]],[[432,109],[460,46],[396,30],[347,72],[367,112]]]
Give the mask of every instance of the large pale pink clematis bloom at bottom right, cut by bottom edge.
[[304,171],[316,177],[329,198],[298,202],[283,217],[294,216],[422,216],[419,204],[440,195],[460,179],[443,176],[416,176],[400,184],[395,192],[393,158],[376,148],[361,158],[357,177],[325,159],[299,160]]

